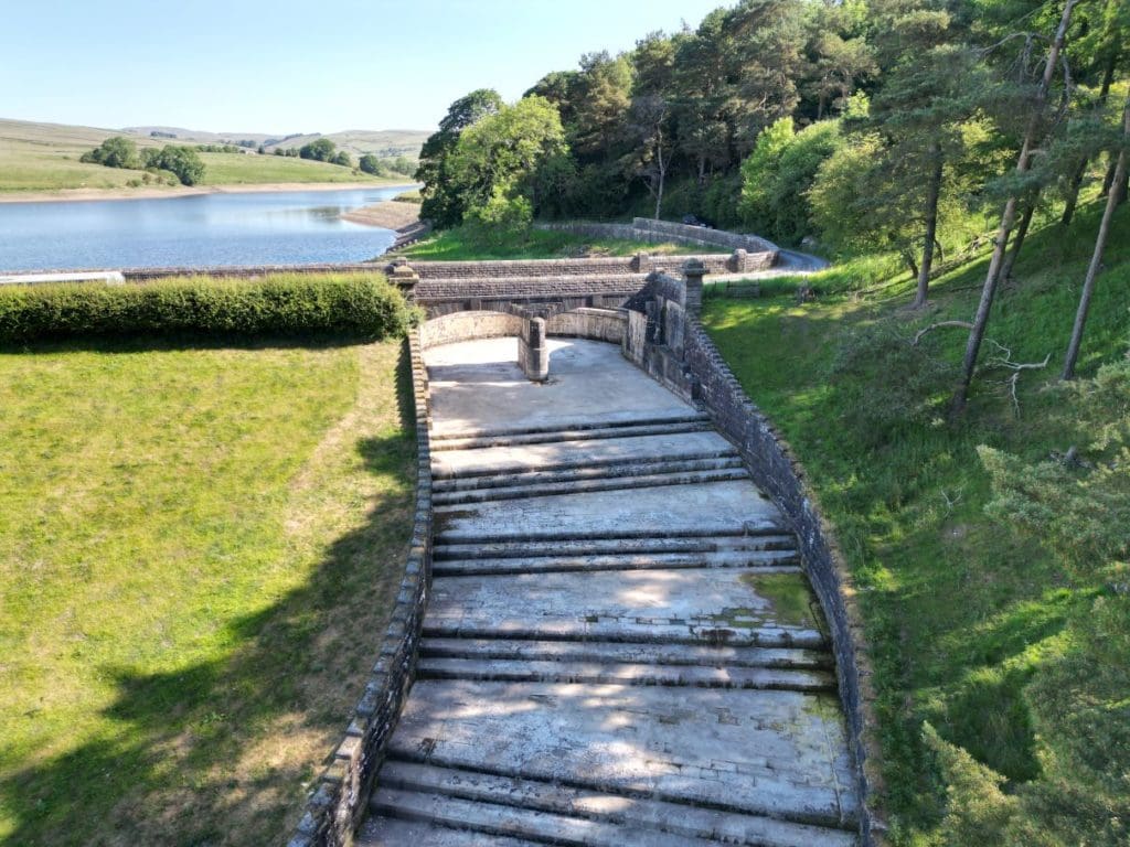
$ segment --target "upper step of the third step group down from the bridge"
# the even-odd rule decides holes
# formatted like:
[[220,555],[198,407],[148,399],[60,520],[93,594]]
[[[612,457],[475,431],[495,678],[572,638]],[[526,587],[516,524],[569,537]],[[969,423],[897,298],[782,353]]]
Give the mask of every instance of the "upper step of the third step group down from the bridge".
[[530,539],[528,541],[462,541],[438,543],[436,561],[447,559],[530,559],[538,556],[635,556],[655,553],[715,553],[744,550],[792,550],[793,535],[676,535],[670,538]]

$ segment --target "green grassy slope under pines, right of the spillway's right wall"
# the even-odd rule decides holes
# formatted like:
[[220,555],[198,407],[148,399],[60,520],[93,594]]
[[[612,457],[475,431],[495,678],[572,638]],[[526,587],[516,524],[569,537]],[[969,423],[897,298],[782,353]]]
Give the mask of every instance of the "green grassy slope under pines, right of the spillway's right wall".
[[[936,281],[925,313],[905,308],[913,295],[910,274],[889,264],[883,273],[883,257],[846,262],[815,278],[771,280],[760,299],[718,291],[706,300],[711,334],[805,464],[861,591],[879,693],[884,804],[895,844],[937,844],[945,785],[923,748],[923,721],[1008,777],[1009,791],[1032,786],[1051,797],[1061,784],[1083,793],[1094,785],[1066,763],[1077,761],[1063,756],[1076,743],[1069,715],[1102,706],[1093,709],[1107,722],[1101,732],[1109,741],[1098,741],[1099,749],[1119,750],[1130,732],[1130,710],[1116,708],[1130,663],[1130,617],[1123,618],[1121,639],[1099,639],[1105,655],[1071,635],[1088,626],[1109,590],[1067,569],[1038,538],[985,515],[991,490],[976,454],[979,444],[988,444],[1035,462],[1089,443],[1093,433],[1048,386],[1062,363],[1097,215],[1092,206],[1067,237],[1054,226],[1033,236],[994,308],[989,338],[1008,348],[1014,361],[1040,363],[1050,353],[1048,368],[1024,373],[1014,405],[1003,382],[1009,373],[983,367],[958,422],[945,420],[953,388],[947,382],[929,399],[933,418],[927,412],[894,422],[876,436],[858,424],[868,419],[861,410],[888,402],[893,387],[915,375],[901,369],[901,359],[876,358],[854,370],[837,370],[834,361],[875,328],[909,344],[929,323],[968,321],[984,257]],[[815,297],[799,303],[802,283],[812,286]],[[1127,355],[1128,315],[1130,211],[1123,211],[1090,313],[1084,376]],[[924,348],[956,364],[965,339],[962,330],[938,330]],[[996,349],[989,344],[983,357]],[[1111,411],[1110,424],[1130,426],[1119,413]],[[1127,605],[1118,597],[1104,602]],[[1052,673],[1074,687],[1049,683]],[[1116,803],[1120,789],[1105,791],[1103,802]],[[1070,815],[1086,813],[1080,809],[1064,804],[1064,826]]]

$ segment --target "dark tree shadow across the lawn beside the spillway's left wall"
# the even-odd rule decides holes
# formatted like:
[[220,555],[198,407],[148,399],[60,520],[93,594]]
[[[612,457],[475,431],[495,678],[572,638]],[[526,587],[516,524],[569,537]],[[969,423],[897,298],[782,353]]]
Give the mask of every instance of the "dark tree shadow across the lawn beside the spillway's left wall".
[[356,445],[384,478],[365,523],[311,577],[231,620],[223,658],[169,672],[107,666],[113,730],[0,783],[3,844],[243,845],[282,840],[306,785],[359,697],[405,566],[415,484],[407,344],[397,367],[400,431]]

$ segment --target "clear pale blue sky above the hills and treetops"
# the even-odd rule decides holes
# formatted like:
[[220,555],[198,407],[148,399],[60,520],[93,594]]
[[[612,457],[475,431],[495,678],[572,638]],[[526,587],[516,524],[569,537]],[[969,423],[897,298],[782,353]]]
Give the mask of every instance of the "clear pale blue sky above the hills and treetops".
[[732,0],[0,0],[0,117],[217,132],[433,129]]

